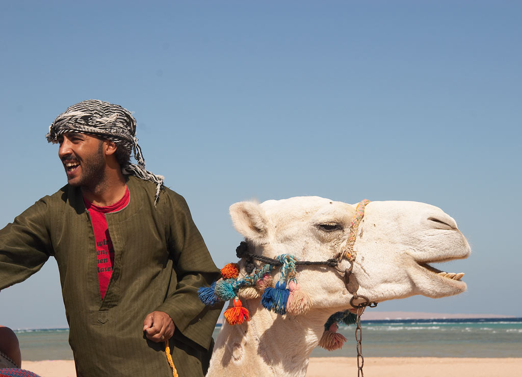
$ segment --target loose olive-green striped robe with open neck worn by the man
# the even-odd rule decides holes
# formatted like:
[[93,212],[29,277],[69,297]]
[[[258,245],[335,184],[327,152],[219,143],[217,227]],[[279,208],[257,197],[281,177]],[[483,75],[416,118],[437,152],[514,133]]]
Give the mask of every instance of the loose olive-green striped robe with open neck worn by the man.
[[171,376],[164,344],[143,333],[155,310],[176,326],[170,347],[180,376],[203,375],[221,308],[201,303],[197,288],[219,270],[182,196],[165,189],[155,207],[155,184],[129,176],[127,185],[127,207],[105,215],[114,268],[103,301],[92,223],[81,191],[69,185],[0,230],[0,289],[54,256],[78,376]]

